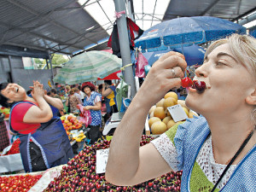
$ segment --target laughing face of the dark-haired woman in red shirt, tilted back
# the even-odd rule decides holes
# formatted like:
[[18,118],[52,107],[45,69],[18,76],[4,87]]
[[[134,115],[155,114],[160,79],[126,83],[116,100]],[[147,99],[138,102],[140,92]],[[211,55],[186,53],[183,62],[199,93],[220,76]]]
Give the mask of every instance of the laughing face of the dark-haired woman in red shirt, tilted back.
[[12,102],[20,102],[26,99],[26,90],[19,84],[8,84],[1,94]]

